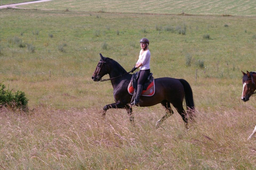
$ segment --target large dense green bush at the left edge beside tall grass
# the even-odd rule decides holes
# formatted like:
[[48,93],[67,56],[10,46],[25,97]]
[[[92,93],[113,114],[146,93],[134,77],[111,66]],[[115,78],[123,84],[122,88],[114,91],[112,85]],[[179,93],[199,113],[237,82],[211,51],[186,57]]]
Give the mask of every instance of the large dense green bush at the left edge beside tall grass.
[[9,106],[13,109],[19,108],[22,110],[27,109],[28,99],[25,93],[22,91],[17,91],[15,94],[9,88],[5,89],[5,85],[0,83],[0,106]]

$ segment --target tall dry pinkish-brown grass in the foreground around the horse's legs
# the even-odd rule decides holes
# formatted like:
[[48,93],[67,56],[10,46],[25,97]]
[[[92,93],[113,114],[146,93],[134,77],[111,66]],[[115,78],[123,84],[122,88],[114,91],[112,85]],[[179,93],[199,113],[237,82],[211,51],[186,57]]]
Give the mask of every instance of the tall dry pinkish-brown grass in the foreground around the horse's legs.
[[185,129],[181,116],[155,122],[163,108],[125,110],[34,108],[26,114],[1,108],[2,169],[255,169],[256,138],[247,141],[256,110],[197,111]]

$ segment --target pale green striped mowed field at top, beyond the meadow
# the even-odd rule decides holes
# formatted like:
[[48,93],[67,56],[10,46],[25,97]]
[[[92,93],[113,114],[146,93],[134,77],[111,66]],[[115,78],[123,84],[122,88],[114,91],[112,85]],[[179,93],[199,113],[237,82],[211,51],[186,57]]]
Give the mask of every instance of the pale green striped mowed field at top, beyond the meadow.
[[22,5],[30,9],[51,9],[110,13],[234,15],[256,16],[254,0],[194,0],[194,1],[120,1],[120,0],[53,0],[40,4]]

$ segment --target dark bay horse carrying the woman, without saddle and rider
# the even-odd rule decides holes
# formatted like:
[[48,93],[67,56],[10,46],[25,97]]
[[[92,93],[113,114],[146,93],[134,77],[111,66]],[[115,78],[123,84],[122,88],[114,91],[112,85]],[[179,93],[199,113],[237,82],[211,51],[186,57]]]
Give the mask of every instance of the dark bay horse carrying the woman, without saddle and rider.
[[[96,81],[110,80],[113,86],[113,95],[115,103],[107,104],[103,107],[102,115],[105,116],[106,111],[110,108],[124,108],[130,116],[130,121],[134,121],[132,113],[132,107],[130,105],[132,95],[128,93],[127,87],[130,83],[132,74],[125,71],[125,69],[115,60],[107,57],[103,57],[97,64],[97,67],[93,73],[92,79]],[[110,79],[102,79],[106,74],[109,74]],[[156,128],[173,114],[171,104],[176,108],[181,115],[185,126],[187,127],[189,112],[194,110],[193,93],[189,83],[184,79],[175,79],[169,77],[155,79],[155,94],[153,96],[141,96],[139,100],[140,107],[153,106],[161,103],[166,108],[166,114],[156,123]],[[187,112],[184,110],[182,103],[185,98]],[[191,114],[192,115],[192,114]]]

